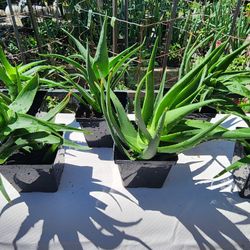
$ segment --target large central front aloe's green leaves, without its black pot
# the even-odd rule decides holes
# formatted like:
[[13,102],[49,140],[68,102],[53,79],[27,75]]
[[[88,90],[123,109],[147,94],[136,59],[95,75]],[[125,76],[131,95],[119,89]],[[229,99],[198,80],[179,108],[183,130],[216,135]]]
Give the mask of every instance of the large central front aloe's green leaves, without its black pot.
[[[156,153],[180,153],[207,140],[249,138],[250,134],[244,134],[242,130],[228,131],[220,126],[228,115],[214,124],[186,119],[188,114],[205,105],[226,104],[225,100],[219,98],[197,101],[200,92],[206,87],[203,82],[200,82],[200,76],[204,70],[211,64],[216,65],[217,68],[223,68],[221,64],[215,63],[224,50],[225,44],[208,54],[164,95],[165,72],[155,97],[153,69],[157,42],[147,73],[137,87],[134,102],[136,126],[128,119],[125,110],[110,89],[112,72],[107,81],[102,79],[102,108],[119,150],[132,160],[151,159]],[[146,93],[141,104],[140,93],[144,84]],[[249,129],[247,131],[250,132]]]

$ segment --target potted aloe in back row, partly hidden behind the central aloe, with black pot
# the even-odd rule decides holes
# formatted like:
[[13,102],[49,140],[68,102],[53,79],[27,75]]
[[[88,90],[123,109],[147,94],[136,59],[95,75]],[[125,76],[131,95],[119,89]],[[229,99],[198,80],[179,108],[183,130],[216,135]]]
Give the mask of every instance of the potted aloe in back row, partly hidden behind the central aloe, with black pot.
[[[72,93],[81,104],[76,112],[76,120],[83,128],[93,132],[91,135],[85,135],[88,145],[90,147],[112,147],[113,140],[103,117],[101,107],[101,76],[107,78],[109,72],[112,71],[113,78],[110,87],[115,89],[130,61],[133,60],[130,58],[141,46],[136,47],[134,45],[116,56],[109,57],[106,41],[107,18],[105,18],[102,25],[100,39],[94,57],[91,56],[88,44],[85,48],[79,40],[68,32],[66,33],[78,48],[79,53],[68,57],[58,54],[45,56],[60,59],[76,71],[74,73],[68,73],[67,70],[65,70],[61,76],[67,82],[63,85],[63,88],[66,90],[75,88],[78,91],[78,93]],[[81,84],[81,81],[87,85],[87,88]],[[123,106],[126,106],[127,93],[115,91],[115,94],[121,100]]]

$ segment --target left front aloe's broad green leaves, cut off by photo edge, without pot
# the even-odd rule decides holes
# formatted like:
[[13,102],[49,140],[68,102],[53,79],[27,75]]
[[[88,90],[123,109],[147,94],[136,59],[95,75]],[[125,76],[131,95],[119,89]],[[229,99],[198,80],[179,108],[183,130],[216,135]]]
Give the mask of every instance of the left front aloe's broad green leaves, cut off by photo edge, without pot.
[[[0,167],[17,152],[29,154],[33,150],[40,150],[45,145],[49,145],[48,154],[55,152],[60,145],[80,150],[87,149],[87,147],[65,139],[61,134],[65,131],[83,132],[82,130],[53,123],[55,115],[67,105],[70,94],[39,119],[26,114],[33,103],[38,86],[39,78],[34,76],[26,83],[13,102],[6,103],[0,97]],[[46,158],[46,156],[48,155],[44,157]],[[1,177],[0,191],[8,199]]]

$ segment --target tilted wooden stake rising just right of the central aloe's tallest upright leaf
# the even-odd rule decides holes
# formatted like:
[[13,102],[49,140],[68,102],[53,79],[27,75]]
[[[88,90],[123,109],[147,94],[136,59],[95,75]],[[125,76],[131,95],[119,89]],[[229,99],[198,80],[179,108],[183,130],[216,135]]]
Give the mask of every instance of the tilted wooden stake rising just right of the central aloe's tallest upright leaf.
[[177,7],[178,7],[178,3],[179,0],[174,0],[173,1],[173,7],[172,7],[172,13],[171,13],[171,20],[169,22],[169,26],[168,26],[168,31],[166,33],[167,37],[166,37],[166,45],[165,45],[165,56],[163,59],[163,71],[165,71],[165,68],[167,66],[167,60],[168,60],[168,52],[169,52],[169,47],[171,45],[171,41],[172,41],[172,36],[173,36],[173,25],[175,22],[175,18],[176,18],[176,14],[177,14]]

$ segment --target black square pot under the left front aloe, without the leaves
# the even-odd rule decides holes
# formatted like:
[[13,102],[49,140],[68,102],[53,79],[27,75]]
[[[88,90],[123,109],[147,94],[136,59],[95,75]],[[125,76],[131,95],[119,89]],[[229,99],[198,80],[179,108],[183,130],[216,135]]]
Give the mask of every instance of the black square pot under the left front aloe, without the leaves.
[[56,192],[64,168],[64,149],[59,148],[51,159],[41,163],[46,151],[15,154],[0,165],[0,173],[18,192]]

